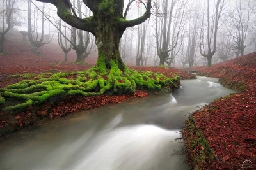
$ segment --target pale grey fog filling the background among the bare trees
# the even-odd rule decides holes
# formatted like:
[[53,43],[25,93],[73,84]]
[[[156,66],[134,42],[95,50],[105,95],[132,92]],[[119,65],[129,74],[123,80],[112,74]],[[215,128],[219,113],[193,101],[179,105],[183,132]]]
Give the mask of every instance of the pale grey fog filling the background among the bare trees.
[[[7,0],[1,1],[4,4]],[[20,0],[12,0],[12,2],[15,2],[12,15],[12,29],[28,32],[28,2]],[[220,1],[220,4],[223,6],[220,6],[218,9],[221,13],[217,24],[218,30],[216,31],[215,50],[214,25],[216,24],[215,11],[217,2],[218,1],[215,0],[209,3],[210,37],[207,38],[207,1],[154,0],[152,2],[151,17],[141,25],[127,28],[122,36],[120,54],[125,64],[131,66],[158,66],[161,60],[160,53],[168,51],[168,56],[163,59],[166,66],[192,67],[207,65],[207,57],[202,56],[202,54],[205,53],[206,55],[209,53],[209,39],[211,41],[211,52],[214,51],[212,64],[232,59],[239,55],[255,52],[255,2],[250,0]],[[128,3],[129,1],[125,0],[124,9]],[[81,18],[92,15],[92,12],[88,10],[84,3],[81,3],[81,5]],[[52,38],[51,43],[58,45],[61,30],[65,32],[65,35],[62,35],[63,44],[65,44],[65,48],[68,48],[68,46],[70,46],[69,41],[72,28],[62,21],[62,27],[58,29],[59,18],[56,14],[56,7],[52,4],[38,1],[33,1],[33,4],[31,4],[31,29],[35,29],[33,35],[35,37],[38,36],[38,39],[40,39],[40,34],[42,33],[43,6],[44,41],[49,41]],[[73,6],[76,13],[79,13],[77,1]],[[167,8],[165,8],[166,6]],[[0,9],[0,15],[1,18],[3,18],[6,6],[3,5]],[[180,13],[180,11],[182,11],[182,13]],[[143,15],[144,12],[145,5],[140,3],[140,1],[134,1],[128,12],[127,20],[138,18]],[[164,20],[167,24],[164,23]],[[240,23],[239,20],[241,20]],[[3,23],[6,27],[6,22],[1,19],[0,24],[2,30],[4,29]],[[169,29],[168,27],[170,27],[170,31],[164,32],[164,29]],[[156,31],[158,31],[158,35]],[[95,38],[93,38],[92,34],[86,36],[85,31],[83,34],[84,41],[87,41],[85,40],[86,38],[90,41],[90,45],[88,45],[87,51],[84,53],[88,53],[89,55],[95,53],[96,56],[97,45],[95,44]],[[78,33],[77,36],[79,36]],[[165,47],[163,46],[163,44],[166,43],[163,42],[164,36],[167,37],[165,39],[170,41]],[[69,38],[69,41],[65,37]],[[158,45],[157,37],[158,40],[161,39],[162,41],[158,41]],[[77,41],[79,41],[78,39],[79,38],[77,38]],[[88,50],[89,48],[90,50]]]

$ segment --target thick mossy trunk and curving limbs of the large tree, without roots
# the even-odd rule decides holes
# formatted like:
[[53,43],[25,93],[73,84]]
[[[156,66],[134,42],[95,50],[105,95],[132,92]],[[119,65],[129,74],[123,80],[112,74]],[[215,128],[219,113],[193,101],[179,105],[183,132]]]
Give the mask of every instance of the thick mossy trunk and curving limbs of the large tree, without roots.
[[127,12],[135,0],[129,1],[124,10],[124,0],[83,0],[83,3],[93,12],[92,17],[80,18],[76,15],[70,1],[38,0],[45,3],[54,4],[57,7],[58,16],[67,24],[77,29],[91,32],[98,45],[98,61],[96,66],[101,69],[116,65],[119,69],[124,69],[119,52],[119,44],[122,34],[127,27],[145,22],[150,17],[151,0],[147,2],[145,13],[134,20],[125,20]]

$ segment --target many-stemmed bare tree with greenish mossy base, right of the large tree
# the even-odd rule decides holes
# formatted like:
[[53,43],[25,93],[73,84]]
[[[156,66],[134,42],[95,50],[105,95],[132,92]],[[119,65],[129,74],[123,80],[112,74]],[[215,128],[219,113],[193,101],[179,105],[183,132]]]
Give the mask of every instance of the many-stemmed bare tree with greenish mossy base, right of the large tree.
[[[170,52],[177,46],[179,34],[184,26],[186,3],[187,1],[162,0],[160,6],[159,1],[155,2],[157,15],[154,29],[156,31],[157,55],[160,59],[159,66],[164,65],[164,62],[169,59]],[[179,18],[179,22],[177,18]]]

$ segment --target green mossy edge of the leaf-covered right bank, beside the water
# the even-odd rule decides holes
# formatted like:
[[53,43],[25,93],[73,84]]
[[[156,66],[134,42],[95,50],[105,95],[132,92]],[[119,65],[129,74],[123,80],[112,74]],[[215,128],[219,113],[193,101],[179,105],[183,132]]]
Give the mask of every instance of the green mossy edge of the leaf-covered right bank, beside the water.
[[217,160],[214,152],[191,116],[185,123],[182,137],[186,143],[188,162],[193,169],[205,169],[207,164],[214,166],[213,163]]

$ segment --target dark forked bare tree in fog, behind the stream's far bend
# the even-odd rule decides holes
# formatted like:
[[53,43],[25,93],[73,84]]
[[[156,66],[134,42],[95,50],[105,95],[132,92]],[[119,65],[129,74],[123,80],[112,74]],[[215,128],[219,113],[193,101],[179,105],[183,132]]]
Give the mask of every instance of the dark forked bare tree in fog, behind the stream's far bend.
[[[217,43],[217,34],[219,28],[219,21],[222,15],[222,12],[225,7],[225,0],[217,0],[214,6],[214,15],[210,15],[210,0],[207,0],[207,46],[204,45],[204,17],[202,20],[202,27],[200,32],[200,54],[207,58],[208,67],[212,66],[212,56],[216,53],[216,43]],[[205,16],[205,12],[204,12]],[[213,39],[213,40],[212,40]],[[213,41],[213,42],[212,42]]]

